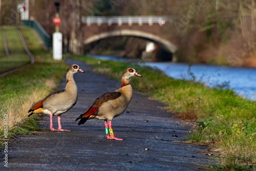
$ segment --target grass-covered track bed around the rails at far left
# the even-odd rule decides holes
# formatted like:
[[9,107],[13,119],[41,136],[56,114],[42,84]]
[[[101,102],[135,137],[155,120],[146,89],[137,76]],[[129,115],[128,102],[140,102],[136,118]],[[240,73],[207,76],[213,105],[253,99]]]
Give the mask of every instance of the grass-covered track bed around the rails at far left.
[[[6,56],[4,50],[4,40],[1,31],[0,42],[2,46],[0,47],[0,73],[11,70],[13,68],[25,65],[30,62],[29,55],[25,52],[22,45],[22,41],[19,38],[17,29],[15,27],[1,27],[5,29],[7,46],[10,53],[10,56]],[[33,34],[31,29],[22,27],[23,34]],[[33,37],[33,36],[32,36]],[[30,42],[30,41],[27,41]],[[36,45],[36,44],[35,44]],[[28,45],[27,45],[28,46]],[[32,47],[33,48],[33,47]]]

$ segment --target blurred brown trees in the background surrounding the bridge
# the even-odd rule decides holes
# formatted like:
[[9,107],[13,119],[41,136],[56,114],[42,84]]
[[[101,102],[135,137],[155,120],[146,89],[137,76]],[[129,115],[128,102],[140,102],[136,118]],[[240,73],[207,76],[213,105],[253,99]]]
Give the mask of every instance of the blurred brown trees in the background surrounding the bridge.
[[[16,5],[22,2],[2,0],[1,25],[19,24]],[[29,2],[30,17],[38,20],[51,35],[54,32],[54,2]],[[60,4],[60,31],[66,52],[74,44],[83,51],[81,16],[165,15],[173,23],[163,32],[166,37],[169,33],[177,34],[178,61],[256,66],[255,0],[61,0]]]

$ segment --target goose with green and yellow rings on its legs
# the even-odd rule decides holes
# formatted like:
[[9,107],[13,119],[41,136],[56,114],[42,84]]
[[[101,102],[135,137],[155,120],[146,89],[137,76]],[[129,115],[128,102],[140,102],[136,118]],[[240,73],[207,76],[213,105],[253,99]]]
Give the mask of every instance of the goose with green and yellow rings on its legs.
[[[94,100],[76,119],[76,121],[81,119],[78,125],[85,123],[88,119],[104,120],[106,138],[123,140],[114,137],[111,121],[125,111],[133,97],[133,88],[129,82],[129,78],[132,76],[142,77],[134,69],[126,69],[122,75],[121,88],[114,92],[105,93]],[[109,123],[106,122],[107,120],[109,120]]]

